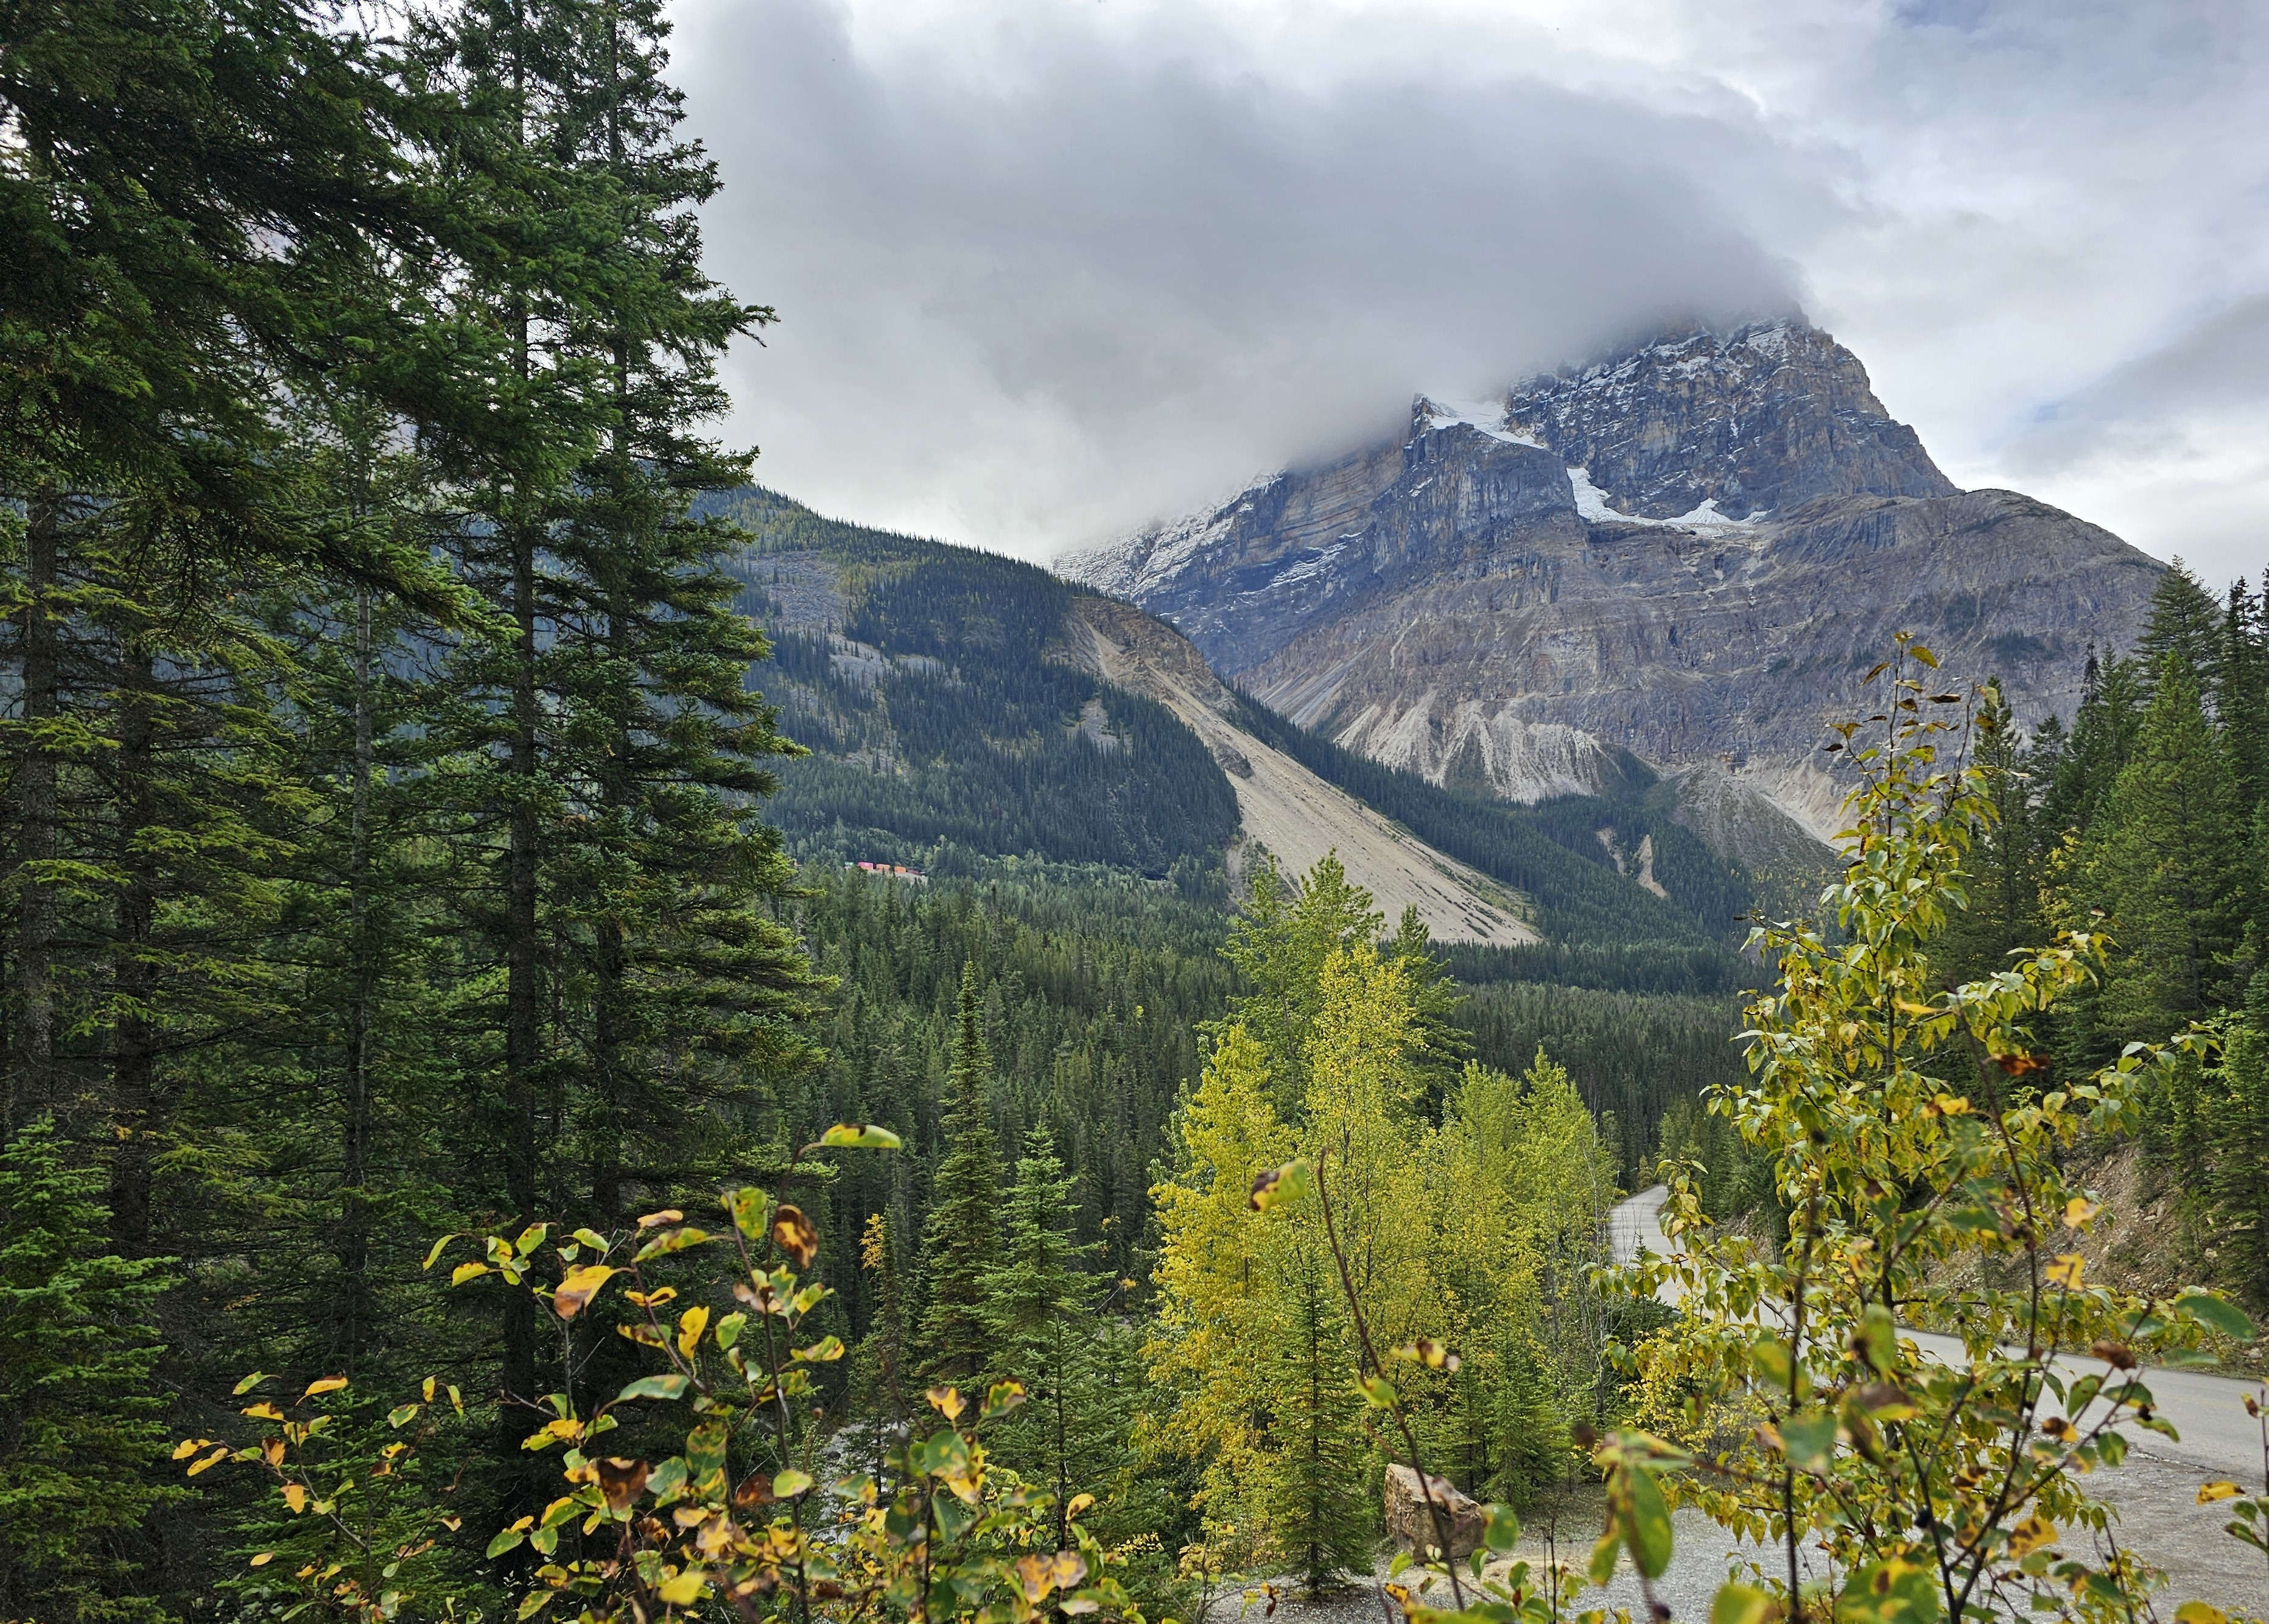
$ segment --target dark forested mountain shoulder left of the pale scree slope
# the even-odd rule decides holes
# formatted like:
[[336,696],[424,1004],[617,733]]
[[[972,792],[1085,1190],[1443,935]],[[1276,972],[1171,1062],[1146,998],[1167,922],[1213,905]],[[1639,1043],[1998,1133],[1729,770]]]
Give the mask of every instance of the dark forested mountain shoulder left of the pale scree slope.
[[812,755],[771,817],[858,857],[953,841],[1164,878],[1216,866],[1237,796],[1164,705],[1055,658],[1078,587],[1035,565],[821,519],[769,490],[715,504],[781,628],[783,728]]

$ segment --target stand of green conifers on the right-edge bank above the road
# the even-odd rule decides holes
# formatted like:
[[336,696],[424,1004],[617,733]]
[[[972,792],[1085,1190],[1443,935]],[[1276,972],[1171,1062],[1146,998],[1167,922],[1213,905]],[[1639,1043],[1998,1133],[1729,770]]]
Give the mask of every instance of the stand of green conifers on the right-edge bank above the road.
[[2022,739],[1988,714],[1999,821],[1972,860],[1945,975],[2056,930],[2103,928],[2101,984],[2047,1025],[2056,1077],[2192,1023],[2142,1143],[2190,1270],[2269,1306],[2269,617],[2181,565],[2135,649],[2090,653],[2081,708]]

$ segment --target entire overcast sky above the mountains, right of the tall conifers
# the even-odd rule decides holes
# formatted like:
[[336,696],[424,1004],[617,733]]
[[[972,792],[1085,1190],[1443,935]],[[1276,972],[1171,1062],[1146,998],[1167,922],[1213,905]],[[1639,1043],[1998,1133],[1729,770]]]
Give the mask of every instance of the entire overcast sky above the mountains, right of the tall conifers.
[[1960,485],[2269,565],[2269,7],[678,0],[731,433],[1030,558],[1665,315],[1802,306]]

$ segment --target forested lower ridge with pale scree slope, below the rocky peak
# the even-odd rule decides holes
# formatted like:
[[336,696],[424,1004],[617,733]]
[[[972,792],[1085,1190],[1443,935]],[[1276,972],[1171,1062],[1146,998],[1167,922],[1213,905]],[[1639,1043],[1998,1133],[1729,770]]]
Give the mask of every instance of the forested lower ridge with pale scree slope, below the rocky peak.
[[758,488],[706,513],[749,535],[731,567],[774,642],[749,680],[810,751],[778,764],[767,817],[808,860],[1041,857],[1221,894],[1262,851],[1293,873],[1336,851],[1436,941],[1672,989],[1715,975],[1747,905],[1640,805],[1643,773],[1616,805],[1464,801],[1289,726],[1173,626],[1035,565]]

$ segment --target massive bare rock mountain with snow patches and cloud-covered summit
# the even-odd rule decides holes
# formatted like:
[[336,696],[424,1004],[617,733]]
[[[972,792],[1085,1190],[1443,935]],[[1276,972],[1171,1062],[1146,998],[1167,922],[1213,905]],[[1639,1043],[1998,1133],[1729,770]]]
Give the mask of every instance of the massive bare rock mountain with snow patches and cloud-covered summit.
[[1833,830],[1822,724],[1913,631],[2019,719],[2069,714],[2156,565],[1956,490],[1802,318],[1663,333],[1062,560],[1237,687],[1373,760],[1507,801],[1679,780],[1763,869]]

